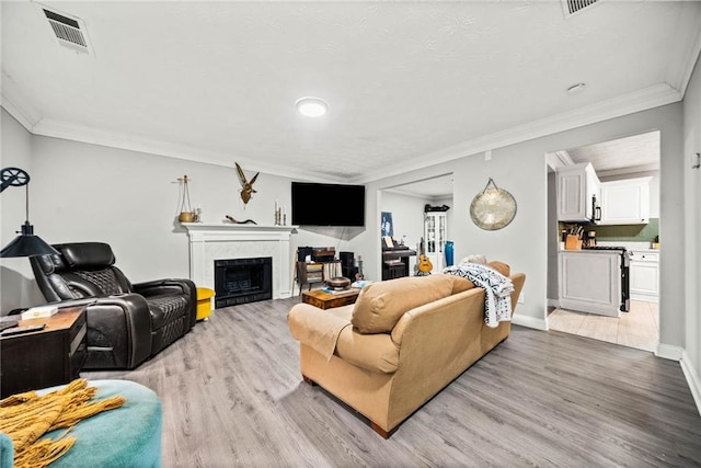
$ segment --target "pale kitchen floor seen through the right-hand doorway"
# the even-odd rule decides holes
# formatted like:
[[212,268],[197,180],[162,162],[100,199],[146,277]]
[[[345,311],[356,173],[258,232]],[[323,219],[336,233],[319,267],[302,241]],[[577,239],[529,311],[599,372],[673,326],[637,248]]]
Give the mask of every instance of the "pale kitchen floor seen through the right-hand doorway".
[[631,300],[620,318],[554,309],[548,316],[550,330],[588,336],[637,350],[655,351],[659,342],[659,309],[655,303]]

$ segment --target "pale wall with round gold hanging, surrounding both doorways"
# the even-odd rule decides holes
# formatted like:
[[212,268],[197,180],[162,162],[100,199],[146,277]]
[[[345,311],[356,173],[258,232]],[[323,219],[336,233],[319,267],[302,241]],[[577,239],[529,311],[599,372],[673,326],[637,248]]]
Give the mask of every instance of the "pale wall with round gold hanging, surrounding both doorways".
[[[447,172],[455,174],[452,240],[456,259],[468,253],[483,252],[490,259],[509,263],[514,271],[525,272],[525,304],[519,305],[515,322],[532,327],[544,327],[547,296],[547,237],[548,198],[544,155],[561,148],[573,148],[659,129],[660,148],[660,238],[662,294],[660,294],[660,342],[670,346],[685,343],[685,197],[682,172],[681,104],[671,104],[632,115],[599,122],[581,128],[561,132],[547,137],[524,141],[492,151],[492,160],[485,161],[482,153],[437,164],[422,171],[382,179],[368,184],[367,232],[353,243],[366,251],[376,249],[366,270],[379,275],[378,191],[413,181],[437,176]],[[516,218],[498,231],[484,231],[472,224],[469,206],[489,178],[497,186],[509,191],[517,203]],[[462,216],[462,214],[466,214]],[[375,231],[375,232],[374,232]],[[372,263],[371,263],[372,262]]]

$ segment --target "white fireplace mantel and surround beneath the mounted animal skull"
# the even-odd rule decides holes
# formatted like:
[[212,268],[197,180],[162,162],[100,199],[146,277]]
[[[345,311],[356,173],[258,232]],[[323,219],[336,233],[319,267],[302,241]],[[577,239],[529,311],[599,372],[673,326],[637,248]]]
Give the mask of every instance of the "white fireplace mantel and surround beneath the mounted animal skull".
[[273,298],[291,296],[289,237],[297,226],[183,222],[189,239],[189,278],[215,288],[215,260],[273,258]]

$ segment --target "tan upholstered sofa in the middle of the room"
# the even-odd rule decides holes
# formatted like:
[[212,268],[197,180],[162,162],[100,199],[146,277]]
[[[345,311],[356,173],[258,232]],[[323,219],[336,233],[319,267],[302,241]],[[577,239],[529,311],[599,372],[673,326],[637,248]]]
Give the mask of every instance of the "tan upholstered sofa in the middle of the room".
[[[492,265],[508,275],[507,265]],[[515,308],[526,276],[510,279]],[[510,322],[489,328],[484,289],[452,275],[374,283],[355,305],[334,309],[298,304],[288,324],[303,379],[368,418],[384,438],[510,331]]]

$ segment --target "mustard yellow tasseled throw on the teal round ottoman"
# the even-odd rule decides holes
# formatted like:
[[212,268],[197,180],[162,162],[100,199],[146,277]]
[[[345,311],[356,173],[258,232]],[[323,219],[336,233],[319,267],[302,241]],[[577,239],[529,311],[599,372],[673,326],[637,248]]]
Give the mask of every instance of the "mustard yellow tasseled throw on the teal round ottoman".
[[[70,427],[102,411],[124,404],[123,397],[90,400],[97,389],[85,379],[38,396],[35,391],[18,393],[0,400],[0,432],[12,440],[15,468],[42,468],[65,455],[76,442],[68,437]],[[56,429],[69,427],[56,440],[41,438]]]

